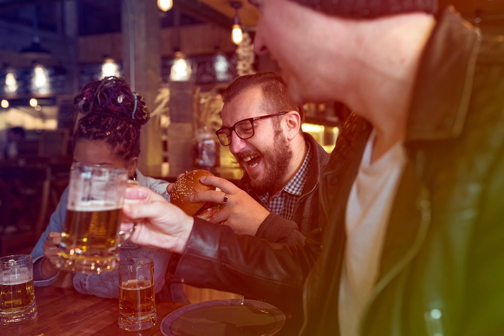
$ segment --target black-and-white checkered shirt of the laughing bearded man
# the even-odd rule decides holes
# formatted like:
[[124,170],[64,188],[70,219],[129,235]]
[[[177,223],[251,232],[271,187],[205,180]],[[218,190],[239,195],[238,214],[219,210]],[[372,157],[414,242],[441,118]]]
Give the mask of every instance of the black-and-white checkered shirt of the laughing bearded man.
[[304,157],[303,164],[294,177],[279,193],[271,197],[268,192],[258,195],[261,200],[261,205],[268,209],[269,212],[275,213],[285,219],[290,220],[292,218],[294,206],[301,196],[301,192],[303,191],[304,184],[308,177],[307,172],[312,157],[311,152],[311,146],[308,144],[308,152]]

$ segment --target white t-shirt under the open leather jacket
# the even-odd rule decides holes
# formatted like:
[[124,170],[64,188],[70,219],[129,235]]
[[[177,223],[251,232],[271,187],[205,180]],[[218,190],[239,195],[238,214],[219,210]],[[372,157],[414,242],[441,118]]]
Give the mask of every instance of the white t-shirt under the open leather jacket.
[[402,142],[372,164],[375,132],[366,144],[348,199],[346,246],[338,302],[340,332],[354,336],[380,271],[390,212],[406,164]]

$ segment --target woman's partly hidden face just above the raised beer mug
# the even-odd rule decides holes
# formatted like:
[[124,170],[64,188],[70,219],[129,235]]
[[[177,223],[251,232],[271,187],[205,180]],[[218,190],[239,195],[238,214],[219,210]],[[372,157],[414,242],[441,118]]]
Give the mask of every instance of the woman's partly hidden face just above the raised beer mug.
[[74,162],[87,165],[103,165],[127,169],[133,176],[136,168],[136,160],[125,162],[117,157],[109,144],[99,140],[80,140],[75,144]]

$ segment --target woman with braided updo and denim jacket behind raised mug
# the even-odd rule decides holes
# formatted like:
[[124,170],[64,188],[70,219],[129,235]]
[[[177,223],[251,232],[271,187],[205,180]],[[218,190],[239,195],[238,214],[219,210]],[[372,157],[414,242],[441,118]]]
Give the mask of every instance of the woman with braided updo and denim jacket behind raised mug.
[[[122,97],[119,98],[118,97]],[[140,154],[140,128],[149,120],[143,98],[131,92],[122,78],[106,77],[84,86],[75,97],[77,113],[81,117],[74,131],[74,162],[121,167],[136,180],[163,199],[167,182],[144,176],[137,168]],[[59,275],[56,252],[61,241],[61,230],[67,211],[68,187],[62,193],[49,225],[33,248],[35,286],[53,284]],[[171,253],[141,247],[126,242],[119,249],[120,258],[145,257],[154,260],[155,291],[161,290]],[[99,297],[118,298],[118,271],[96,274],[67,274],[64,286],[74,287],[79,293]],[[181,289],[180,289],[181,290]]]

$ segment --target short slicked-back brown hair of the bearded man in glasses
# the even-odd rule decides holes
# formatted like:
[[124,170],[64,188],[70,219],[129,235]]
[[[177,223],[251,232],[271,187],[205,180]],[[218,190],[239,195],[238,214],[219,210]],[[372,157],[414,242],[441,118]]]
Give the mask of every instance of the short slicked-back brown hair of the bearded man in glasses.
[[[275,72],[263,72],[235,78],[224,92],[224,104],[240,93],[256,87],[261,88],[263,93],[264,112],[273,114],[283,111],[297,111],[301,116],[301,122],[303,121],[304,111],[302,107],[290,101],[287,84],[282,76]],[[278,122],[278,119],[275,122]]]

